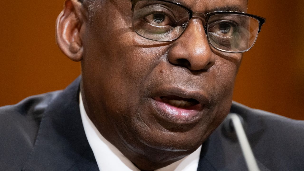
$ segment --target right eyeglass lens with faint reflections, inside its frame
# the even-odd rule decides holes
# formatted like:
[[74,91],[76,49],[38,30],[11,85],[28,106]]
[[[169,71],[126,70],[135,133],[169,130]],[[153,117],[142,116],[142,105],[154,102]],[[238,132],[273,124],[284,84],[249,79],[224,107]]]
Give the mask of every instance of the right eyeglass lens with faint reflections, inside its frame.
[[258,34],[259,22],[240,14],[215,14],[208,20],[209,43],[221,51],[240,53],[249,50]]

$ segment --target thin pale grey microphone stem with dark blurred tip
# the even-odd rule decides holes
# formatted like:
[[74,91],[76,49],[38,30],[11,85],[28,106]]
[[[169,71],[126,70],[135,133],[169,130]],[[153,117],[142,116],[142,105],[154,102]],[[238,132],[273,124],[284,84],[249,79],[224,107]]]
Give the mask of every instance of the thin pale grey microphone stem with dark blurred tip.
[[229,113],[223,123],[223,128],[228,137],[237,135],[240,147],[242,149],[248,171],[260,171],[257,161],[254,158],[252,149],[244,131],[244,119],[237,113]]

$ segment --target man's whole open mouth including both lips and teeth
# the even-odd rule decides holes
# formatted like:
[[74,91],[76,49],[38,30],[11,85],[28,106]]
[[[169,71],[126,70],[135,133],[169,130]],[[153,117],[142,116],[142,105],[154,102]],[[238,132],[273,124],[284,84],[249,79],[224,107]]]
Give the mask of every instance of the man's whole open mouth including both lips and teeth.
[[208,99],[199,91],[161,89],[151,97],[155,116],[164,123],[195,124],[204,116]]

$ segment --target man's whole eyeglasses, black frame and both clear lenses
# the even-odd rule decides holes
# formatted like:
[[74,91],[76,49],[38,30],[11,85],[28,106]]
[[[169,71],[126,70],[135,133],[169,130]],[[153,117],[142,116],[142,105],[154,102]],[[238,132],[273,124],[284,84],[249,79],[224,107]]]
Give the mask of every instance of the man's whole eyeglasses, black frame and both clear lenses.
[[169,42],[178,39],[193,17],[203,18],[209,44],[229,53],[248,51],[257,39],[265,19],[236,11],[203,14],[166,0],[131,0],[133,28],[141,37]]

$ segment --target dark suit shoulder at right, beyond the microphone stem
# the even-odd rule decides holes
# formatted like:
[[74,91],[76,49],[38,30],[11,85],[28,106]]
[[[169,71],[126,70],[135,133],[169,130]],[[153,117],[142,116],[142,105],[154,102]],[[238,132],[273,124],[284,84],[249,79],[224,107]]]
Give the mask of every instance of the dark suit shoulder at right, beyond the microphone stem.
[[304,169],[304,121],[233,103],[243,117],[256,158],[270,170]]

